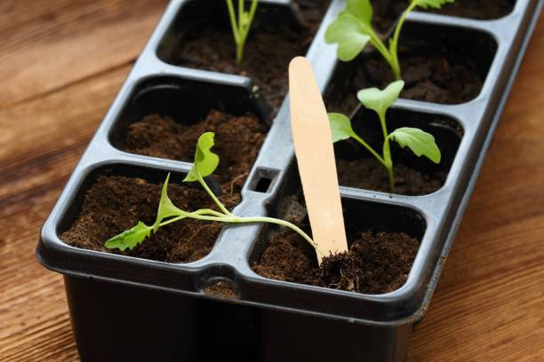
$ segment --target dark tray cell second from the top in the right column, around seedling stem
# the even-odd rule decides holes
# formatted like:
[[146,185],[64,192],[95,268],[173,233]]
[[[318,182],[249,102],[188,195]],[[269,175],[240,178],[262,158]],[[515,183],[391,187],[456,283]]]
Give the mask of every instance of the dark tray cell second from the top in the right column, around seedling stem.
[[[401,98],[460,104],[476,98],[497,51],[492,36],[469,28],[407,22],[399,40],[405,83]],[[349,114],[357,91],[384,88],[394,76],[388,62],[368,48],[350,62],[340,62],[325,91],[329,112]]]

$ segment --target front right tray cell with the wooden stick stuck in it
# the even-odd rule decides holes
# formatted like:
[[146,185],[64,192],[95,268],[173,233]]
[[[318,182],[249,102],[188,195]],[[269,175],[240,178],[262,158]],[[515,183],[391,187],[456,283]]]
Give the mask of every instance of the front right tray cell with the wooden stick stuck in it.
[[[300,180],[293,168],[270,216],[283,218],[310,233]],[[324,206],[326,207],[326,206]],[[404,285],[427,223],[412,209],[379,202],[342,199],[349,254],[324,258],[296,232],[265,225],[250,257],[253,271],[269,279],[385,294]]]

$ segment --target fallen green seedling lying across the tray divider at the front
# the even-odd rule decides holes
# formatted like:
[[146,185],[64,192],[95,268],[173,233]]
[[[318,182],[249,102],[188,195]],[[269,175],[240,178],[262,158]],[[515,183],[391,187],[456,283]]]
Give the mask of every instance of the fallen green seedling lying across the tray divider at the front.
[[323,256],[323,253],[319,251],[316,243],[312,240],[306,232],[300,230],[300,228],[287,221],[276,219],[273,217],[242,217],[233,215],[227,208],[219,201],[217,196],[212,192],[210,187],[204,181],[204,177],[212,175],[213,171],[217,169],[219,165],[219,156],[212,153],[214,134],[212,132],[206,132],[200,138],[196,145],[195,163],[193,168],[189,171],[187,177],[183,179],[183,182],[195,182],[197,181],[206,193],[210,195],[212,200],[218,206],[220,211],[213,209],[198,209],[196,211],[186,211],[176,207],[170,198],[168,197],[168,182],[170,180],[170,174],[164,181],[163,190],[161,192],[161,200],[156,213],[155,223],[151,225],[138,222],[132,229],[116,235],[110,240],[106,241],[106,248],[119,248],[124,251],[126,248],[132,249],[140,245],[146,238],[149,237],[151,232],[156,232],[159,228],[178,222],[184,218],[193,218],[197,220],[217,221],[227,224],[249,224],[249,223],[270,223],[279,224],[284,227],[292,229],[294,232],[298,232],[302,238],[307,240],[310,245],[316,248],[316,251]]

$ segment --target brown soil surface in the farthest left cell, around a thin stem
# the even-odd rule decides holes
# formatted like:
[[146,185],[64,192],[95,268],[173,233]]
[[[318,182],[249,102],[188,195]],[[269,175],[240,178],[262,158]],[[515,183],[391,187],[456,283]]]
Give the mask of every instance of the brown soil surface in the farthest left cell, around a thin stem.
[[258,13],[245,44],[241,66],[236,64],[231,29],[218,28],[217,24],[189,27],[181,35],[180,46],[164,55],[166,61],[184,67],[247,75],[276,114],[288,89],[289,62],[308,51],[330,0],[295,0],[294,3],[300,9],[299,27],[289,27],[280,21],[266,24],[266,17],[262,19]]

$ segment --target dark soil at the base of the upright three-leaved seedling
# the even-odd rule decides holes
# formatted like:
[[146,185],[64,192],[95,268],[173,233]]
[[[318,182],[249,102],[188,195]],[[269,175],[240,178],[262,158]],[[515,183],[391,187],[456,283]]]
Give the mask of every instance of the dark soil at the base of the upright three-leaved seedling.
[[[365,190],[390,193],[387,170],[371,157],[356,160],[338,160],[338,177],[340,185]],[[395,164],[395,193],[401,195],[425,195],[434,193],[447,177],[447,172],[437,170],[422,172],[412,169],[403,163]]]

